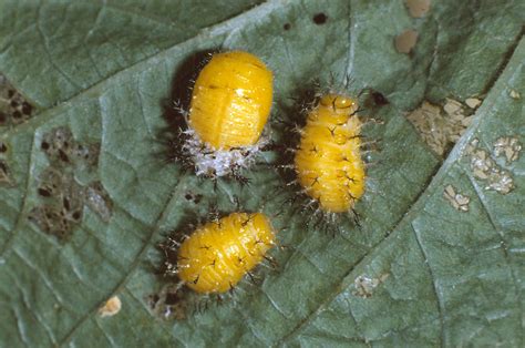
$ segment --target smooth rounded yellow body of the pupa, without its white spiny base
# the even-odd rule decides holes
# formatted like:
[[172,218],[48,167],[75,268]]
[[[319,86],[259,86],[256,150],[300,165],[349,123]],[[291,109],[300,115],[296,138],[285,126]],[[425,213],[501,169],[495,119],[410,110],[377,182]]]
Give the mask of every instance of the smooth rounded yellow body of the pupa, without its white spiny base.
[[213,150],[257,143],[268,120],[272,73],[257,57],[215,54],[200,71],[189,105],[189,126]]

